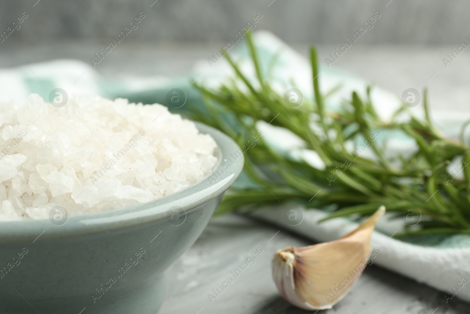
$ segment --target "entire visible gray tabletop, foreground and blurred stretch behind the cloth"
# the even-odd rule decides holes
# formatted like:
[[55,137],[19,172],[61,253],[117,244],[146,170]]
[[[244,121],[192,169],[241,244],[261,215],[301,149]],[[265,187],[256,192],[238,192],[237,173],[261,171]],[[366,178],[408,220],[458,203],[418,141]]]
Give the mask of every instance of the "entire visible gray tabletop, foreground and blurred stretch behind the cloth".
[[[88,62],[100,45],[99,42],[71,41],[4,46],[0,51],[0,67],[54,58]],[[149,70],[168,76],[178,75],[187,72],[196,60],[207,58],[220,46],[221,43],[152,45],[128,42],[96,69],[105,77],[124,73],[148,75]],[[307,54],[306,45],[295,48]],[[331,48],[320,47],[321,58],[328,56]],[[428,82],[431,108],[468,110],[470,76],[466,69],[470,65],[470,55],[462,55],[457,60],[459,64],[445,68],[441,59],[450,50],[452,47],[357,46],[348,50],[335,66],[397,94],[409,87],[422,89],[438,72]],[[308,244],[312,244],[308,239],[246,217],[215,218],[200,240],[168,270],[168,295],[158,313],[304,313],[280,297],[271,279],[270,263],[276,250]],[[224,282],[230,272],[258,247],[263,253],[256,263],[211,302],[208,294],[212,289]],[[446,303],[444,293],[372,265],[366,268],[349,295],[333,309],[322,313],[453,314],[470,313],[470,307],[456,298]]]

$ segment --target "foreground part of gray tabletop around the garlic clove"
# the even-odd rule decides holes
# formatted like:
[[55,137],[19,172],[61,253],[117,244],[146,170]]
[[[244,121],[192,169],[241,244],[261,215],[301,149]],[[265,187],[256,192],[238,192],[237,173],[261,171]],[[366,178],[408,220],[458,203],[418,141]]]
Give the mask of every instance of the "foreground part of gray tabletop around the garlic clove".
[[[271,277],[274,252],[287,246],[313,244],[250,218],[227,215],[214,218],[200,240],[167,271],[168,295],[158,314],[300,314],[314,313],[290,306]],[[273,237],[274,236],[274,237]],[[226,281],[256,248],[263,253],[219,297],[208,294]],[[198,312],[200,311],[200,312]],[[149,312],[150,313],[150,312]],[[351,292],[324,314],[465,314],[468,303],[426,285],[367,266]],[[143,313],[142,313],[143,314]]]

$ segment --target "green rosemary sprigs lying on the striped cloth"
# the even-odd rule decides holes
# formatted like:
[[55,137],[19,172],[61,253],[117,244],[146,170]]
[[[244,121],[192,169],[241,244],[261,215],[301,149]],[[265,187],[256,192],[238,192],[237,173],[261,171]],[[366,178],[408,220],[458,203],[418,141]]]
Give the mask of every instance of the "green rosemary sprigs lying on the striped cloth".
[[[463,140],[457,142],[441,136],[433,126],[426,91],[424,121],[410,115],[407,122],[385,124],[370,97],[361,99],[356,92],[341,110],[328,111],[323,105],[326,96],[321,95],[319,88],[316,49],[311,48],[314,102],[305,99],[298,108],[291,108],[274,91],[269,76],[263,76],[251,33],[246,38],[257,81],[251,81],[226,54],[236,77],[218,90],[196,85],[207,110],[204,114],[195,113],[196,116],[233,137],[240,146],[258,135],[257,121],[288,129],[305,141],[305,148],[318,153],[325,168],[313,168],[277,151],[259,137],[256,145],[245,153],[244,168],[257,187],[230,189],[218,213],[299,201],[316,208],[335,204],[337,210],[330,213],[326,218],[329,219],[352,214],[363,217],[385,205],[397,216],[412,215],[413,221],[419,219],[420,230],[402,235],[470,233],[470,168],[466,167],[470,163],[470,149]],[[246,88],[241,89],[240,82]],[[398,113],[405,113],[406,109],[400,108]],[[415,140],[418,150],[406,158],[387,157],[385,145],[376,143],[376,137],[386,131],[406,134]],[[347,143],[352,140],[358,143],[360,139],[371,145],[375,159],[348,151]],[[463,180],[450,176],[446,170],[458,156],[463,156]]]

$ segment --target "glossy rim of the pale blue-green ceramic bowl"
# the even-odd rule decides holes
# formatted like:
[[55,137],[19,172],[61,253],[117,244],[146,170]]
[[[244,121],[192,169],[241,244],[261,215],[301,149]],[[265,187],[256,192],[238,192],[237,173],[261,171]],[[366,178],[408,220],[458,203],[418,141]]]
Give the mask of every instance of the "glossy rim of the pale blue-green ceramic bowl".
[[224,193],[235,182],[243,169],[244,151],[231,137],[218,129],[200,122],[194,123],[201,133],[211,135],[218,145],[216,149],[218,164],[213,172],[202,181],[146,203],[98,213],[69,216],[63,225],[54,225],[49,219],[0,221],[0,242],[28,238],[34,241],[45,240],[141,225],[149,221],[166,219],[167,212],[175,206],[183,209],[186,214],[197,210],[200,205]]

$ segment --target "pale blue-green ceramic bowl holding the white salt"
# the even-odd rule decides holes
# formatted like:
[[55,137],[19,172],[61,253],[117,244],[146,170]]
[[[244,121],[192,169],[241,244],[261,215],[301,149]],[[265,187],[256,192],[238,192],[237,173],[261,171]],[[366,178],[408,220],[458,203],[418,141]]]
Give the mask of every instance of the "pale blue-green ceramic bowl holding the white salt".
[[243,169],[230,137],[197,127],[216,139],[219,165],[196,185],[63,225],[0,222],[0,313],[156,313],[164,270],[197,240]]

